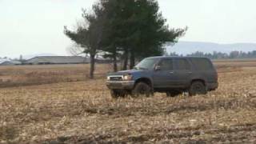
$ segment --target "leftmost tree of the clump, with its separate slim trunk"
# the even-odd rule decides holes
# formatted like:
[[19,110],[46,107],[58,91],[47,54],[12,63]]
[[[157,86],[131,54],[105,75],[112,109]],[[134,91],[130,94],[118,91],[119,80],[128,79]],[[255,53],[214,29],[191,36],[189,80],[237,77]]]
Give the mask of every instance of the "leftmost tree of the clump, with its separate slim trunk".
[[77,30],[71,31],[66,26],[64,27],[64,33],[78,46],[83,48],[82,52],[90,54],[90,78],[94,78],[95,56],[101,49],[102,23],[104,21],[102,11],[98,3],[94,4],[92,13],[82,10],[84,23],[78,26]]

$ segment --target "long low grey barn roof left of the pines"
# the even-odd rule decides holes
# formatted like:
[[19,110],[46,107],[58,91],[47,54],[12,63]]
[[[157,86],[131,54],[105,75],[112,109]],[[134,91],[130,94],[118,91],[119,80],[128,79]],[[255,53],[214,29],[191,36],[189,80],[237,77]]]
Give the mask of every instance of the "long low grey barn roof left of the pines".
[[80,56],[40,56],[34,57],[26,61],[27,64],[33,63],[50,63],[50,64],[66,64],[66,63],[86,63],[88,58]]

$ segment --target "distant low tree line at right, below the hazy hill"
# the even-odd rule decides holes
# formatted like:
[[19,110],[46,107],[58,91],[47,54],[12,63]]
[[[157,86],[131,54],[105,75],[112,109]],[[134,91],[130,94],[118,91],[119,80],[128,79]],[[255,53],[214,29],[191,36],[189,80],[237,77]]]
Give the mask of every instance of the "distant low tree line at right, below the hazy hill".
[[[168,56],[183,56],[182,54],[176,54],[172,52],[166,54]],[[213,53],[204,53],[201,51],[194,52],[192,54],[187,54],[190,57],[205,57],[210,59],[236,59],[236,58],[256,58],[256,50],[243,52],[243,51],[231,51],[230,53],[222,53],[214,51]]]

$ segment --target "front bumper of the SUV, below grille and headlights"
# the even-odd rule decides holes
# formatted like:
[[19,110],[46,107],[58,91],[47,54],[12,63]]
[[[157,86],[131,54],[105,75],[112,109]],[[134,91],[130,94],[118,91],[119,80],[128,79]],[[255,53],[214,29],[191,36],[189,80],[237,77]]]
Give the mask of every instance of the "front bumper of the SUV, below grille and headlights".
[[111,90],[132,90],[134,81],[106,81],[106,86]]

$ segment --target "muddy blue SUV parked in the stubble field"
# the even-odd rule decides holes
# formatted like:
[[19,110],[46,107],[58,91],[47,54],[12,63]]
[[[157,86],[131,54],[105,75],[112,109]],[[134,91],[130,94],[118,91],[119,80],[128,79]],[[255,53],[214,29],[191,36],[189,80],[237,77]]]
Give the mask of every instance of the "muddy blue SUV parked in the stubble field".
[[218,88],[218,74],[208,58],[152,57],[139,62],[134,70],[108,74],[106,86],[113,98],[154,92],[171,97],[183,92],[206,94]]

